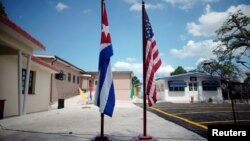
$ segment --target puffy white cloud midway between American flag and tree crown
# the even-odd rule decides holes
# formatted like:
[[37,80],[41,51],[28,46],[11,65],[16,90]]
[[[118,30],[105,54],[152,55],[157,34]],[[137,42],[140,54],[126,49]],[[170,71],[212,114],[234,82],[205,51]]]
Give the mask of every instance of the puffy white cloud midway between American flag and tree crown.
[[212,50],[214,50],[217,45],[218,43],[215,43],[212,40],[204,40],[201,42],[189,40],[181,49],[171,49],[170,54],[180,59],[196,56],[211,57],[213,56]]

